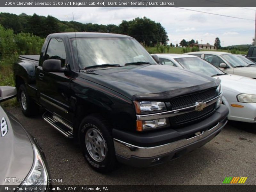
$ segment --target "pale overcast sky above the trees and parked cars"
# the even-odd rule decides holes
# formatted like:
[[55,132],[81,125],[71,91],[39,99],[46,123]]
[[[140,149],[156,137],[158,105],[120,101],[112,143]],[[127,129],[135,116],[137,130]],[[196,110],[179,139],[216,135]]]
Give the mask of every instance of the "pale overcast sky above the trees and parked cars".
[[1,7],[1,12],[20,14],[22,12],[32,15],[52,15],[59,20],[72,20],[74,12],[75,21],[81,23],[116,24],[122,20],[132,20],[136,17],[148,17],[160,22],[165,28],[170,43],[178,44],[182,39],[203,44],[214,44],[215,37],[219,37],[221,46],[236,44],[251,44],[254,37],[255,11],[243,8],[226,7],[190,7],[188,9],[212,12],[222,15],[242,17],[251,20],[234,19],[205,13],[181,10],[173,7]]

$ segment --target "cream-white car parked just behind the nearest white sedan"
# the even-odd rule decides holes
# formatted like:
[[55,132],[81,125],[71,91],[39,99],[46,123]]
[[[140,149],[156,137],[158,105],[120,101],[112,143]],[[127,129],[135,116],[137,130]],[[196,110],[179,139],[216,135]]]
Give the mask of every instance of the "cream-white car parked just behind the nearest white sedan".
[[215,67],[220,68],[225,73],[241,75],[256,79],[256,68],[248,65],[236,55],[227,52],[200,51],[184,53],[200,57]]

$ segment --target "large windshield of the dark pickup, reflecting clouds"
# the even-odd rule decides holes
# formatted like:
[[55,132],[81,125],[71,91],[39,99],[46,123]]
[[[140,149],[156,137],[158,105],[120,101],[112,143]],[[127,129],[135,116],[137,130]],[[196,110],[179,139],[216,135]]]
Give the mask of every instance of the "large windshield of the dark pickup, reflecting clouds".
[[118,64],[121,66],[124,66],[125,63],[133,62],[156,64],[149,53],[132,38],[72,38],[71,44],[74,58],[79,64],[80,69],[102,64]]

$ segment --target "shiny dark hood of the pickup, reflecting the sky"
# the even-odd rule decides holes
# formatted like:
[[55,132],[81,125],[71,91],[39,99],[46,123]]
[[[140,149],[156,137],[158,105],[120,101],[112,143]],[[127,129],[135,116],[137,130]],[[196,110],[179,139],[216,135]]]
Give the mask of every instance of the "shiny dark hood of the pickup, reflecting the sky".
[[108,87],[131,100],[167,100],[220,83],[219,79],[165,65],[97,68],[82,71],[81,78]]

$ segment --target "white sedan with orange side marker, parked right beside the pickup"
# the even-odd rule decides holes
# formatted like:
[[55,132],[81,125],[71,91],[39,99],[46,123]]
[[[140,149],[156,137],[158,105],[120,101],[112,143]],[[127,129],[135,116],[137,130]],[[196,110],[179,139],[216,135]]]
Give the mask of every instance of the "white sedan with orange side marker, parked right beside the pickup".
[[[256,123],[256,80],[230,75],[193,55],[157,54],[160,64],[185,68],[221,79],[223,103],[229,108],[228,119]],[[172,68],[170,68],[172,70]]]

